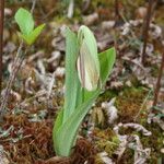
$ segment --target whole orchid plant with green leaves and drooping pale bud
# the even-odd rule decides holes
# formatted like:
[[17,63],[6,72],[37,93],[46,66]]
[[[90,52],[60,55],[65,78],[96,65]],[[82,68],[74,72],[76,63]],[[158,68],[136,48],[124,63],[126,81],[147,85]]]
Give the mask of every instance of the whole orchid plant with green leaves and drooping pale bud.
[[115,48],[97,52],[95,37],[89,27],[82,25],[78,35],[67,27],[65,105],[58,113],[52,130],[57,155],[71,154],[79,127],[102,93],[115,58]]

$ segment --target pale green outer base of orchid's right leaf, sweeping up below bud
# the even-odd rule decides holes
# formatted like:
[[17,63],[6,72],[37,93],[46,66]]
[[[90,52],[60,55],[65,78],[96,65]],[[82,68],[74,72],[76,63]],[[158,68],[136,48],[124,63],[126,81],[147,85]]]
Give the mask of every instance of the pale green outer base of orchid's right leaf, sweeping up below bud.
[[[54,130],[54,141],[57,155],[69,156],[72,145],[75,141],[77,132],[84,116],[87,114],[90,107],[99,94],[96,91],[90,99],[75,108],[69,119],[56,131]],[[57,145],[56,145],[57,144]]]

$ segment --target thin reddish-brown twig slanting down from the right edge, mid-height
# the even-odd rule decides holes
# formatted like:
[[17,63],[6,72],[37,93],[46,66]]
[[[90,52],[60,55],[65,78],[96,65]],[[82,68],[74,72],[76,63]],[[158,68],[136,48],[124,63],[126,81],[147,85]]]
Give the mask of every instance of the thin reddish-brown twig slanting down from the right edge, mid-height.
[[164,70],[164,51],[163,51],[161,68],[160,68],[159,77],[157,77],[157,81],[156,81],[156,87],[154,91],[153,106],[156,106],[156,104],[157,104],[157,97],[159,97],[159,92],[160,92],[160,87],[161,87],[161,79],[162,79],[163,70]]

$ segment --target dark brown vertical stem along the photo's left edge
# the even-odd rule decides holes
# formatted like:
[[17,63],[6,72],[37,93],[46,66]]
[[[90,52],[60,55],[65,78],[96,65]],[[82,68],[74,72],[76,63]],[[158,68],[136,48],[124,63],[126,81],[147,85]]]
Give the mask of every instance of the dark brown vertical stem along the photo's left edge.
[[4,0],[1,0],[0,1],[0,93],[2,89],[3,19],[4,19]]

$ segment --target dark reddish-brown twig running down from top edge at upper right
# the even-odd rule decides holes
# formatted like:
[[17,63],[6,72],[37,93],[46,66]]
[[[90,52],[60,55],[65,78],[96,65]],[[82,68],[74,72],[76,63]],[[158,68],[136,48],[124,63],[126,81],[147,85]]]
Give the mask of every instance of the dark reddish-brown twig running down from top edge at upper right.
[[154,0],[149,0],[147,15],[145,15],[145,19],[144,19],[145,23],[143,25],[143,32],[142,32],[142,36],[143,36],[143,49],[142,49],[142,55],[141,55],[141,61],[142,61],[143,66],[145,63],[145,49],[147,49],[147,44],[148,44],[148,34],[149,34],[149,27],[150,27],[152,11],[153,11],[153,3],[154,3]]

